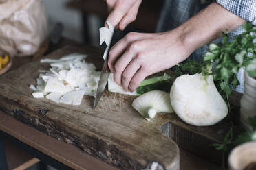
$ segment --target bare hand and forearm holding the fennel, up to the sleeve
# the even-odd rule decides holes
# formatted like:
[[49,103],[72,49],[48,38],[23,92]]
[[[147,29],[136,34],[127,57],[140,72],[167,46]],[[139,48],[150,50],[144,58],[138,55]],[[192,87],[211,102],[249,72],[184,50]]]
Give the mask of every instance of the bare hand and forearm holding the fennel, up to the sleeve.
[[133,91],[148,75],[182,62],[195,49],[219,38],[222,31],[231,31],[244,22],[239,16],[212,3],[170,32],[127,34],[109,51],[109,69],[114,72],[117,84]]

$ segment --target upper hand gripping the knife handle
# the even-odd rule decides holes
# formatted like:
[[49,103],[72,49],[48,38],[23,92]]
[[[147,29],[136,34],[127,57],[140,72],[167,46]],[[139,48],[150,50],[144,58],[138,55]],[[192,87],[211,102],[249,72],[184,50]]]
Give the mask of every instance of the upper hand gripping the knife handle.
[[[106,21],[120,30],[136,19],[142,0],[105,0],[109,11]],[[107,26],[107,25],[105,25]]]

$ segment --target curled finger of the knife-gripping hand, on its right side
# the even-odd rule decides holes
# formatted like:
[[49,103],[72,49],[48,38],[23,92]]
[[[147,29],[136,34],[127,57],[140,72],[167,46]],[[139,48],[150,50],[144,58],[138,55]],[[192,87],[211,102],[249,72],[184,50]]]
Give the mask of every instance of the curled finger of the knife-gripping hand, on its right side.
[[134,5],[127,12],[127,14],[125,14],[125,16],[122,18],[118,25],[120,30],[124,30],[129,23],[135,21],[136,16],[138,14],[138,8],[140,7],[140,3],[141,1],[136,1],[136,3],[134,3]]

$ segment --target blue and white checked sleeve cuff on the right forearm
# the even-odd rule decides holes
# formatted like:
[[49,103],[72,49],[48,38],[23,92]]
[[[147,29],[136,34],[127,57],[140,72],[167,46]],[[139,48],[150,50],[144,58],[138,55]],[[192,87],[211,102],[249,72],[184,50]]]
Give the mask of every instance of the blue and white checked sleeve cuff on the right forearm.
[[226,10],[256,25],[256,0],[216,0]]

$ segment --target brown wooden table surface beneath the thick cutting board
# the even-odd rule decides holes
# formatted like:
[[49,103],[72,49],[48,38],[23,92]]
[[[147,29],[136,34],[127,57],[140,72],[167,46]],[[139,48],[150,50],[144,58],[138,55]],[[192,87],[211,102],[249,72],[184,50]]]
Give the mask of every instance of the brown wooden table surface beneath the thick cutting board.
[[[14,66],[17,67],[28,61],[30,61],[30,58],[17,58],[14,60]],[[116,169],[116,167],[112,167],[105,162],[85,154],[78,147],[47,136],[1,111],[0,120],[0,130],[38,149],[44,154],[63,162],[73,169]],[[188,167],[189,169],[217,169],[217,166],[211,162],[198,158],[181,149],[180,169],[188,169]]]

